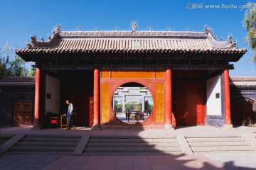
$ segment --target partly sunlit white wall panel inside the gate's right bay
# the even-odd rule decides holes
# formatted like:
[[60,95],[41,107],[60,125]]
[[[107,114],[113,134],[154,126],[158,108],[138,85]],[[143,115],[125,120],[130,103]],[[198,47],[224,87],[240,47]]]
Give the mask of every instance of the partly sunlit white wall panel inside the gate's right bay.
[[[221,83],[220,75],[206,81],[206,115],[221,115]],[[220,94],[216,98],[216,94]]]

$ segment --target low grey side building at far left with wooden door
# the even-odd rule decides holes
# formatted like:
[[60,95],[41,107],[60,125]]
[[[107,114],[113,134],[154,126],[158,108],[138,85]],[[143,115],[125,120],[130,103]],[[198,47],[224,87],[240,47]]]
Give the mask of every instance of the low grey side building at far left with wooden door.
[[0,127],[32,125],[35,77],[4,77],[0,81]]

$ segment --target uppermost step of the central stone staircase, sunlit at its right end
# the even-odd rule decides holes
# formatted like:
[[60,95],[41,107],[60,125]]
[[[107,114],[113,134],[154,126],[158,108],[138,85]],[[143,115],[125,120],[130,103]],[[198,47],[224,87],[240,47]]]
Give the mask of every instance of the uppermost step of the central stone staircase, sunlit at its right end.
[[172,143],[177,139],[90,139],[89,143]]

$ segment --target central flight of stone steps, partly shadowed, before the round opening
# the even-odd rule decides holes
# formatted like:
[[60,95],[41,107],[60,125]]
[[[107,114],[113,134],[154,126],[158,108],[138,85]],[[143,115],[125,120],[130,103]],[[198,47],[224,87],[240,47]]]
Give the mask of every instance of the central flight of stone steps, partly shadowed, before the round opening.
[[82,155],[142,155],[182,152],[176,135],[164,137],[92,135]]

